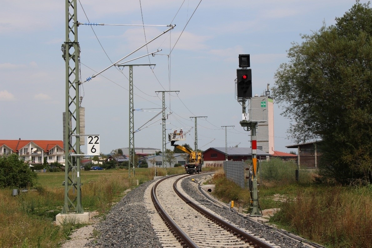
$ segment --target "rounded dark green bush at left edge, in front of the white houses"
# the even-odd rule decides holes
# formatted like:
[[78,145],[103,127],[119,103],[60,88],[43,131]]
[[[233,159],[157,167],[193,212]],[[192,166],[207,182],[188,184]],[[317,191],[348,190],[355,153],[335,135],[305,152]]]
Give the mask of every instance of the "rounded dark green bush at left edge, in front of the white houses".
[[0,187],[33,186],[37,175],[16,153],[0,157]]

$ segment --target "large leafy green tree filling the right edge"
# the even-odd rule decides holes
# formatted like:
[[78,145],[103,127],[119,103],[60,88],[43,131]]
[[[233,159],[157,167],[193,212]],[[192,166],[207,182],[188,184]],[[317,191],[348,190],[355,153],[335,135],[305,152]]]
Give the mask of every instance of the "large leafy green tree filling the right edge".
[[359,1],[336,25],[293,43],[275,74],[273,97],[296,142],[321,139],[321,174],[372,180],[372,9]]

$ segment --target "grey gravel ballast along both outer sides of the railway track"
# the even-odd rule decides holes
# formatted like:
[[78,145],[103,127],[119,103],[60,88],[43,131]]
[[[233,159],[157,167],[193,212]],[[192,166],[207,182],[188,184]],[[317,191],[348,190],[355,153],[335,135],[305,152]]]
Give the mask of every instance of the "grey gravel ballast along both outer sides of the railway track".
[[[195,174],[196,180],[201,180],[205,174]],[[144,205],[145,189],[154,181],[146,182],[139,187],[131,190],[122,200],[112,207],[105,219],[96,225],[99,236],[90,240],[85,246],[90,248],[101,247],[138,247],[138,248],[161,248],[147,215]],[[230,220],[241,228],[245,228],[258,236],[282,248],[299,247],[305,248],[308,245],[301,244],[287,236],[275,232],[270,226],[252,222],[247,218],[229,212],[228,210],[216,206],[197,190],[197,184],[191,180],[183,180],[183,190],[196,201],[208,207],[218,215]],[[256,236],[257,236],[256,235]]]

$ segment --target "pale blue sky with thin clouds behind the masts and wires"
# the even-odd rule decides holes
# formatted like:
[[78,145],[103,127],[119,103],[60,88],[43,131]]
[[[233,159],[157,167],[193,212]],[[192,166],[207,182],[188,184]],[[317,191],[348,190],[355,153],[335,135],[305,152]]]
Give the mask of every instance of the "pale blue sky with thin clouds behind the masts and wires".
[[[235,99],[239,54],[250,54],[253,94],[260,95],[267,83],[274,85],[279,65],[288,62],[286,51],[292,42],[301,42],[301,34],[311,34],[323,22],[333,25],[335,17],[353,4],[354,0],[235,0],[228,4],[222,0],[80,0],[77,15],[81,23],[140,25],[143,18],[145,25],[176,25],[128,57],[162,49],[150,59],[132,62],[156,64],[153,70],[149,66],[133,69],[134,108],[147,109],[134,112],[134,126],[141,127],[160,111],[161,95],[155,91],[180,91],[166,94],[167,111],[173,113],[166,121],[167,133],[174,128],[191,129],[186,143],[193,147],[195,122],[190,117],[207,116],[198,118],[198,147],[205,150],[225,146],[221,128],[225,125],[235,126],[228,128],[229,147],[250,147],[250,132],[240,127],[241,105]],[[93,32],[92,27],[80,25],[82,80],[166,29],[105,25],[93,26]],[[3,0],[0,35],[0,139],[62,140],[65,1]],[[86,134],[100,134],[103,153],[129,144],[128,75],[128,67],[122,71],[112,67],[80,88]],[[274,109],[275,150],[289,152],[285,146],[294,144],[286,138],[289,120],[280,115],[278,105]],[[161,125],[138,131],[135,146],[161,149]]]

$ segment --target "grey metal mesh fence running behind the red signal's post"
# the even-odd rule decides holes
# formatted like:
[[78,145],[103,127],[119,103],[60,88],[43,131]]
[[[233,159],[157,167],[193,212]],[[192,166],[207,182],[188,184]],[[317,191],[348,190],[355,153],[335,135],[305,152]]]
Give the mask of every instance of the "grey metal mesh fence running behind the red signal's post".
[[[224,161],[226,178],[240,187],[246,187],[249,178],[251,160]],[[282,161],[281,159],[260,160],[257,179],[262,186],[290,183],[310,183],[318,177],[316,167],[298,166],[296,161]]]

